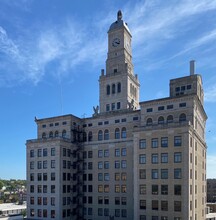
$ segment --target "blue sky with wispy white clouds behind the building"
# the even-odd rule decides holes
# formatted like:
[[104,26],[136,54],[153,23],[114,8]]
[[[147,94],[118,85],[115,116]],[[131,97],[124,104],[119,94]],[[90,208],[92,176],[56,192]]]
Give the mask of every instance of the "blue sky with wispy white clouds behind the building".
[[122,10],[140,101],[169,95],[196,60],[205,91],[207,177],[216,178],[216,0],[1,0],[0,178],[26,177],[34,117],[92,115],[107,31]]

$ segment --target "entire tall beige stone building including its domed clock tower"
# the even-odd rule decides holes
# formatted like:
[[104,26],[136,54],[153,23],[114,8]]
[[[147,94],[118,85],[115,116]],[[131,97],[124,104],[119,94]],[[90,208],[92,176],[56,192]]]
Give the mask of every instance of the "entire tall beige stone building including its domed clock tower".
[[191,61],[188,76],[170,80],[169,97],[139,102],[131,38],[119,11],[92,117],[35,119],[29,219],[205,219],[202,78]]

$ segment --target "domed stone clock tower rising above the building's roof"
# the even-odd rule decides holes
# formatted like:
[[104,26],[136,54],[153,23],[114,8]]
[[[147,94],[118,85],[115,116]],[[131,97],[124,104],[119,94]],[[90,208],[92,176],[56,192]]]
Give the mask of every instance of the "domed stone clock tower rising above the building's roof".
[[106,72],[101,71],[100,113],[139,108],[139,81],[134,75],[132,35],[118,11],[108,31]]

